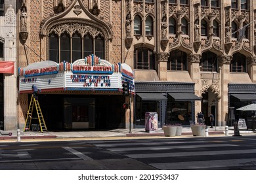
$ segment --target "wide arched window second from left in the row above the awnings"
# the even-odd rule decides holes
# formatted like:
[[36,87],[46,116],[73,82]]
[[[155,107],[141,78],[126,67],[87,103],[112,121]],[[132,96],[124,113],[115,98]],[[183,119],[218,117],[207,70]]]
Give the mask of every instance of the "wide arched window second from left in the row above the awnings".
[[186,71],[187,70],[187,56],[181,50],[173,50],[170,52],[168,58],[167,70],[171,71]]

